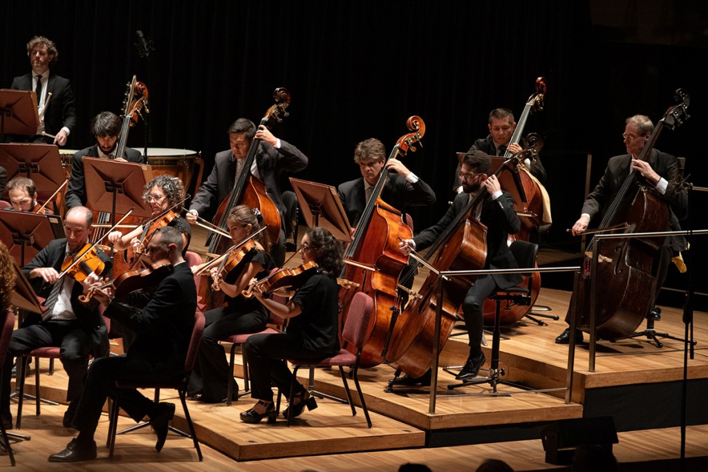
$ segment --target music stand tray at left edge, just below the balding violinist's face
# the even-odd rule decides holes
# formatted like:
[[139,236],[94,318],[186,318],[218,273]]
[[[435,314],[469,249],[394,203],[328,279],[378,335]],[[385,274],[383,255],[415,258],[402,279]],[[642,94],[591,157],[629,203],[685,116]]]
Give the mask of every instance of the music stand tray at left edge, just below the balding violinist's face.
[[0,239],[21,266],[32,260],[50,241],[64,237],[62,217],[0,210]]

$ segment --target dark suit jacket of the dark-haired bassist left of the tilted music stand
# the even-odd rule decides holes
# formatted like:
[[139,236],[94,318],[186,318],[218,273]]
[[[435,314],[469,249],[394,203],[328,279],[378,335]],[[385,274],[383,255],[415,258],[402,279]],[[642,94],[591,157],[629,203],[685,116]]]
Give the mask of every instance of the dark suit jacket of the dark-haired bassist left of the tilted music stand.
[[[253,144],[253,142],[251,142]],[[280,174],[283,171],[299,172],[307,167],[307,156],[297,147],[280,139],[280,148],[261,142],[256,152],[258,174],[265,184],[268,196],[280,212],[280,219],[285,221],[285,204],[280,193]],[[231,151],[219,152],[215,157],[214,167],[209,177],[202,183],[189,209],[195,209],[205,219],[215,214],[216,209],[229,195],[236,183],[236,156]]]

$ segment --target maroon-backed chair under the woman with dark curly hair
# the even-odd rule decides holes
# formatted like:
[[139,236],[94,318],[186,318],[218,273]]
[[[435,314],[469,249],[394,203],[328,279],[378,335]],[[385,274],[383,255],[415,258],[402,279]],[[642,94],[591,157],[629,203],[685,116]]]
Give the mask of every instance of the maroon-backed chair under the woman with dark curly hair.
[[[352,377],[354,379],[354,384],[359,393],[359,401],[361,402],[362,410],[364,410],[364,415],[366,417],[366,422],[369,427],[372,427],[371,418],[369,416],[369,410],[366,408],[366,402],[364,400],[364,394],[361,391],[361,386],[359,384],[358,370],[359,361],[361,359],[362,348],[367,340],[367,328],[371,322],[371,317],[373,316],[374,301],[364,292],[358,292],[354,295],[352,302],[349,306],[349,311],[347,313],[347,318],[344,323],[344,328],[342,330],[342,338],[353,345],[357,349],[356,354],[352,354],[346,349],[340,349],[335,355],[331,357],[324,357],[322,359],[289,359],[290,364],[294,366],[292,372],[292,384],[290,385],[290,398],[288,398],[288,403],[292,405],[293,393],[295,393],[295,382],[297,377],[297,370],[300,367],[305,367],[308,369],[316,367],[339,367],[339,374],[342,377],[342,382],[344,384],[344,391],[347,394],[348,403],[352,409],[352,416],[356,416],[356,409],[354,408],[354,403],[352,401],[352,394],[349,390],[349,384],[347,383],[347,376],[344,373],[344,367],[351,367]],[[287,425],[290,426],[292,423],[292,408],[288,409]]]

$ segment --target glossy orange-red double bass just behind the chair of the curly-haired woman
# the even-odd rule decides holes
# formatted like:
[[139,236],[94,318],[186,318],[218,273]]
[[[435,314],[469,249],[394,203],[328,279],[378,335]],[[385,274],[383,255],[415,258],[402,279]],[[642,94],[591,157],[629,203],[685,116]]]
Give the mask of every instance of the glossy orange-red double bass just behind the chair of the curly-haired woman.
[[[389,154],[387,162],[405,156],[408,150],[426,133],[426,124],[418,116],[411,116],[406,121],[411,131],[401,136]],[[348,306],[356,292],[365,292],[374,300],[373,325],[371,335],[365,343],[362,355],[362,367],[372,367],[383,361],[382,352],[387,340],[389,325],[394,313],[400,310],[398,299],[399,277],[408,258],[399,251],[399,240],[413,237],[413,231],[404,222],[401,212],[381,199],[381,192],[389,175],[385,163],[379,180],[372,190],[359,223],[353,235],[353,241],[344,253],[346,263],[343,279],[358,284],[355,287],[343,287],[339,292],[339,305],[342,313],[347,313]]]

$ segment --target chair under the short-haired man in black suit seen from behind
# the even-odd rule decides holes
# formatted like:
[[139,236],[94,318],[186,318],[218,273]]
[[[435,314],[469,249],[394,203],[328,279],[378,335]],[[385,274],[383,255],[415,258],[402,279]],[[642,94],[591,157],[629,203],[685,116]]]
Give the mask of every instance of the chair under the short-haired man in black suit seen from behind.
[[110,422],[108,423],[108,447],[109,453],[108,457],[113,459],[113,448],[115,447],[115,434],[118,427],[118,413],[120,410],[120,393],[122,389],[126,388],[174,388],[179,393],[179,399],[182,402],[182,408],[184,410],[185,419],[187,420],[187,425],[189,426],[189,437],[192,438],[194,442],[194,447],[197,449],[197,456],[199,460],[202,461],[202,450],[199,447],[199,441],[197,439],[197,434],[194,430],[194,423],[192,422],[192,417],[189,414],[187,408],[186,396],[187,388],[189,386],[189,377],[192,373],[194,367],[194,362],[197,359],[197,352],[199,352],[199,345],[202,342],[202,335],[204,334],[204,313],[201,311],[195,311],[194,313],[194,328],[192,329],[192,336],[189,341],[189,348],[187,350],[187,357],[184,362],[184,376],[178,381],[143,381],[143,382],[131,382],[131,381],[116,381],[115,386],[119,388],[118,394],[115,396],[113,401],[113,407],[110,410]]

